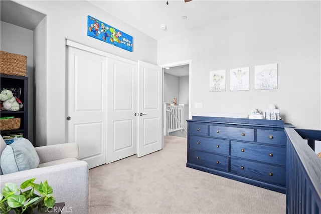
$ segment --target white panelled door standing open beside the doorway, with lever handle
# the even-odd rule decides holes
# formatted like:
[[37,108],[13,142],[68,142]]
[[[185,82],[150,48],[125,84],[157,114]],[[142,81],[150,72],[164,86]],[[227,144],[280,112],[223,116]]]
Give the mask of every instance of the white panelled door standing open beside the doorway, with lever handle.
[[139,125],[137,156],[163,148],[163,73],[162,68],[138,61]]

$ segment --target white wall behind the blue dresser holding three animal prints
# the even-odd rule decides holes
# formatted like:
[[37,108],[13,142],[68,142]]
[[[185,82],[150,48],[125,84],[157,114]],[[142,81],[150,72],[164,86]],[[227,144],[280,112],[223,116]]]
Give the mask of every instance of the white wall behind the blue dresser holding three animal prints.
[[[285,122],[320,129],[320,2],[247,4],[255,4],[253,13],[159,40],[158,64],[192,60],[192,115],[249,114],[274,104]],[[278,88],[254,90],[254,66],[271,63],[278,63]],[[241,67],[250,67],[250,89],[231,92],[229,69]],[[227,70],[227,90],[209,92],[209,72],[221,69]],[[196,102],[203,108],[195,109]]]

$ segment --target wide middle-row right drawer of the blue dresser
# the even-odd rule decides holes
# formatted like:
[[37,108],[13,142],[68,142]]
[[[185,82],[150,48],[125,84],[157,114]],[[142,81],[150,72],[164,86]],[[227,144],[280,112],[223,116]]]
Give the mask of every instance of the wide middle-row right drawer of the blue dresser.
[[285,166],[286,149],[231,141],[231,156]]

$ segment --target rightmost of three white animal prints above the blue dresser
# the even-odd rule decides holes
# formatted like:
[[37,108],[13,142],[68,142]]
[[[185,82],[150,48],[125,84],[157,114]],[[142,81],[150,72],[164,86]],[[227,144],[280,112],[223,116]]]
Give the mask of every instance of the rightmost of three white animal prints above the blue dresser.
[[277,89],[277,63],[255,66],[255,90]]

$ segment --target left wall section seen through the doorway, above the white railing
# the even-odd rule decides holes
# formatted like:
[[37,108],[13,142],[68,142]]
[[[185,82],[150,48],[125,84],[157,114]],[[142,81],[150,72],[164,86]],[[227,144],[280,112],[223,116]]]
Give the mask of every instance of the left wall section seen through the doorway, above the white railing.
[[179,92],[179,77],[172,74],[164,73],[164,102],[171,103],[174,97],[177,97],[178,104],[180,103]]

